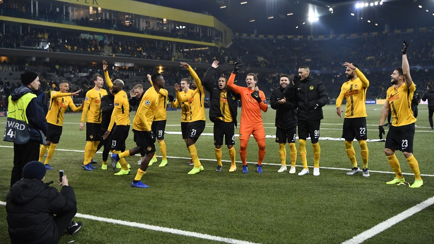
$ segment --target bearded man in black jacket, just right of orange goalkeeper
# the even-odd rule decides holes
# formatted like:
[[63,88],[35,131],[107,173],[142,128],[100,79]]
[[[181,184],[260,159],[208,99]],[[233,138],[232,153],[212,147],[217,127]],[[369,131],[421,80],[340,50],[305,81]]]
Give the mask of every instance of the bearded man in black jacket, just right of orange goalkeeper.
[[286,171],[286,142],[289,144],[289,155],[291,158],[291,168],[289,173],[295,173],[295,162],[297,161],[297,148],[295,138],[297,133],[297,106],[286,99],[283,91],[289,85],[289,76],[280,76],[279,87],[271,92],[270,104],[272,109],[276,109],[276,142],[279,144],[280,166],[277,172]]

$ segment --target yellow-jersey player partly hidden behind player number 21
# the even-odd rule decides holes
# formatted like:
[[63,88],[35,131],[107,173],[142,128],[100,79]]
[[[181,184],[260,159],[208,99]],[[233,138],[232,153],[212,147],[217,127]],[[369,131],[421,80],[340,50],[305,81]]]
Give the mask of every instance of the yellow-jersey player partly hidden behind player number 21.
[[[174,88],[175,90],[180,89],[179,95],[181,97],[190,97],[191,94],[193,94],[193,90],[190,89],[190,83],[191,83],[190,79],[182,78],[180,85],[176,83],[174,85]],[[185,144],[187,144],[187,125],[188,122],[191,120],[190,103],[188,101],[185,102],[180,102],[179,100],[174,101],[173,95],[169,95],[169,100],[171,101],[171,105],[173,108],[177,108],[178,106],[181,106],[181,134],[182,134],[182,139],[184,139]],[[193,166],[193,161],[190,160],[190,162],[187,164],[188,166]]]

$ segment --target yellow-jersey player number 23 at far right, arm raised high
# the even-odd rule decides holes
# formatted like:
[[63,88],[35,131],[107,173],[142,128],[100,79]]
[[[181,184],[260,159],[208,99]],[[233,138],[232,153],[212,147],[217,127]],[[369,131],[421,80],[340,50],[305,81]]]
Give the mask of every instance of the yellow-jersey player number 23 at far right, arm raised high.
[[415,174],[415,182],[410,187],[418,188],[424,184],[424,181],[421,178],[418,161],[413,155],[416,118],[413,116],[411,109],[411,100],[416,90],[416,85],[410,77],[410,65],[407,60],[408,45],[409,43],[404,41],[404,46],[401,49],[402,68],[396,68],[392,75],[390,75],[392,86],[387,89],[387,102],[384,103],[381,109],[378,129],[380,131],[379,137],[382,139],[385,133],[383,123],[386,120],[389,108],[391,108],[392,124],[387,132],[384,153],[396,176],[393,180],[386,182],[386,184],[405,183],[401,166],[395,156],[395,151],[399,150],[403,153],[407,163]]

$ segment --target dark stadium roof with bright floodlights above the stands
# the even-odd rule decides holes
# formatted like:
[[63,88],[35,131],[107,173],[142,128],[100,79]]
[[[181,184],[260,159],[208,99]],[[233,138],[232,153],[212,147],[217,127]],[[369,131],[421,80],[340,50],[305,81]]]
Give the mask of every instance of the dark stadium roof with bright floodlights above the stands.
[[[434,26],[434,0],[141,1],[210,14],[234,32],[248,34],[328,35]],[[318,21],[308,20],[309,10],[318,14]]]

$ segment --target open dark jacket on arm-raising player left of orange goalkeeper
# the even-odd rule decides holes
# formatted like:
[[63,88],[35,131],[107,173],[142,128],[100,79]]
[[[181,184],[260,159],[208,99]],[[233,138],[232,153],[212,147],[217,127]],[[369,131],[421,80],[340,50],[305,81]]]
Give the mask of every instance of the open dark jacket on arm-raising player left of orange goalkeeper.
[[[213,67],[208,68],[203,77],[203,86],[210,94],[210,105],[209,105],[209,119],[214,123],[215,118],[223,117],[222,111],[220,111],[220,88],[216,85],[215,80],[216,69]],[[237,127],[237,109],[238,100],[241,96],[233,92],[229,86],[226,86],[226,99],[228,100],[229,109],[232,113],[232,122],[234,126]]]

